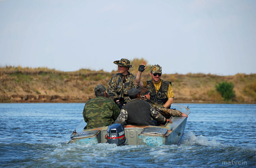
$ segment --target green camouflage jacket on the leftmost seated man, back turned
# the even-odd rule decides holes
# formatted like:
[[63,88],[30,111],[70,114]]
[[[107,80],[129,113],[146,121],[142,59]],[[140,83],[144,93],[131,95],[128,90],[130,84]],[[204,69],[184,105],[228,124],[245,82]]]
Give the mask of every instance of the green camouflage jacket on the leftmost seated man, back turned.
[[111,99],[98,96],[88,100],[83,111],[83,117],[87,123],[85,129],[108,126],[119,114],[120,109]]

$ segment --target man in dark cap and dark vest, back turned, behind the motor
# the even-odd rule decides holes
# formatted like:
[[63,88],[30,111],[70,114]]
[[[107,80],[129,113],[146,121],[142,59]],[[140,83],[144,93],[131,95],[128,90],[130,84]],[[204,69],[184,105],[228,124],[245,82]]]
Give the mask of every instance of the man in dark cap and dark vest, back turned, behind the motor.
[[155,126],[151,118],[161,124],[170,121],[169,119],[165,119],[165,117],[157,112],[149,103],[139,100],[139,93],[140,90],[136,88],[129,90],[128,94],[132,100],[125,104],[125,106],[121,109],[120,115],[117,117],[114,123],[123,125]]

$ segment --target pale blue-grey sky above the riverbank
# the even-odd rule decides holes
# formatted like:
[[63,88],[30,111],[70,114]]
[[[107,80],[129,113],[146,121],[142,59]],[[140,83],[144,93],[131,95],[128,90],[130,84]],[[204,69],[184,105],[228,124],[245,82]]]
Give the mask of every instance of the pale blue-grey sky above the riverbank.
[[[0,66],[256,73],[255,0],[0,0]],[[134,67],[138,68],[138,67]]]

